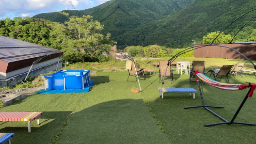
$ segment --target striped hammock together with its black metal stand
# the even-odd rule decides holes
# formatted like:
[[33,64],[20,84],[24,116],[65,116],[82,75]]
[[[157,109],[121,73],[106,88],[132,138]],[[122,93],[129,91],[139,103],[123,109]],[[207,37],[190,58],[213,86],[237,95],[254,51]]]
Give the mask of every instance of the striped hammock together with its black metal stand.
[[[241,110],[241,108],[244,106],[245,101],[247,100],[248,97],[252,97],[252,93],[256,87],[255,84],[251,84],[249,83],[249,85],[242,85],[242,84],[225,84],[225,83],[219,83],[217,81],[214,81],[213,79],[209,78],[208,76],[205,76],[202,73],[199,73],[198,71],[195,71],[195,75],[196,75],[196,82],[198,84],[198,88],[199,88],[199,92],[200,92],[200,96],[201,96],[201,100],[202,100],[202,105],[201,106],[193,106],[193,107],[185,107],[185,109],[187,108],[204,108],[206,110],[208,110],[209,112],[211,112],[212,114],[214,114],[215,116],[219,117],[220,119],[222,119],[224,122],[220,122],[220,123],[214,123],[214,124],[205,124],[204,126],[213,126],[213,125],[220,125],[220,124],[245,124],[245,125],[256,125],[256,124],[252,124],[252,123],[243,123],[243,122],[234,122],[234,120],[236,119],[236,116],[238,115],[239,111]],[[220,89],[224,89],[224,90],[241,90],[241,89],[245,89],[250,87],[249,91],[247,92],[247,94],[244,97],[244,100],[242,101],[242,103],[240,104],[240,106],[238,107],[238,109],[236,110],[236,113],[234,114],[233,118],[231,119],[231,121],[228,121],[226,119],[224,119],[223,117],[221,117],[220,115],[216,114],[215,112],[213,112],[211,109],[209,108],[224,108],[224,107],[218,107],[218,106],[206,106],[204,104],[204,99],[203,99],[203,95],[201,92],[201,88],[200,88],[200,84],[199,81],[197,80],[198,77],[203,80],[205,83],[210,84],[214,87],[220,88]]]

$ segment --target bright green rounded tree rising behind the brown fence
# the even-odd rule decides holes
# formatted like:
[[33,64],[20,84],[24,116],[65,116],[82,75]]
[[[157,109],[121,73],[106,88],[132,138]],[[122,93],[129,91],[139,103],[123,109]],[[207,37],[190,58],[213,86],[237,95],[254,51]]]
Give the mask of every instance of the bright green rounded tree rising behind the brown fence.
[[[203,44],[210,44],[215,39],[216,36],[218,36],[220,31],[217,32],[211,32],[207,36],[203,37]],[[224,32],[222,32],[213,43],[215,44],[221,44],[221,43],[229,43],[232,40],[232,37],[230,34],[225,35]]]

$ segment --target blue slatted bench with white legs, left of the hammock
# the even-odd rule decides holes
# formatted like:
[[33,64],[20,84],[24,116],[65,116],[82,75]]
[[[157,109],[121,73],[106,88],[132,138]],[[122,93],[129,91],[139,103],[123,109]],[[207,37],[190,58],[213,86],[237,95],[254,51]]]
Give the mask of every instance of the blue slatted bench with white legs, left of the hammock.
[[[162,99],[164,99],[164,92],[189,92],[189,95],[191,96],[191,92],[193,92],[193,99],[195,99],[195,92],[197,92],[193,88],[158,88],[158,91],[162,93]],[[161,95],[159,95],[158,99]]]

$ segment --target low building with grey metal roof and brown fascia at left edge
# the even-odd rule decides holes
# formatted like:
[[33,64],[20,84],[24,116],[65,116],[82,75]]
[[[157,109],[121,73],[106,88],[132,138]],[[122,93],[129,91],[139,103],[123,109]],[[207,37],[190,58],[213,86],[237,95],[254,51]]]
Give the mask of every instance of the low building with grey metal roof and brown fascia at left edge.
[[58,64],[62,54],[53,48],[0,36],[0,87],[22,81],[36,60],[39,61],[31,68],[31,77],[55,71],[57,65],[62,68],[61,60]]

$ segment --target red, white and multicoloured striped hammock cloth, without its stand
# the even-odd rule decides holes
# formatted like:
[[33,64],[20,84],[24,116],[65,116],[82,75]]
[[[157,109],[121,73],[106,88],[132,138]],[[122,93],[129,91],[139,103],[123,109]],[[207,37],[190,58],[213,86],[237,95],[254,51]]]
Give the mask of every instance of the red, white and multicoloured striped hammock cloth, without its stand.
[[[212,86],[214,86],[216,88],[219,88],[219,89],[222,89],[222,90],[236,91],[236,90],[243,90],[243,89],[246,89],[246,88],[251,86],[251,91],[248,94],[249,97],[252,97],[253,91],[256,88],[256,84],[226,84],[226,83],[220,83],[220,82],[217,82],[217,81],[211,79],[210,77],[208,77],[208,76],[206,76],[206,75],[204,75],[204,74],[202,74],[198,71],[195,71],[195,75],[197,77],[199,77],[204,83],[207,83],[209,85],[212,85]],[[197,82],[197,77],[196,77],[196,82]]]

